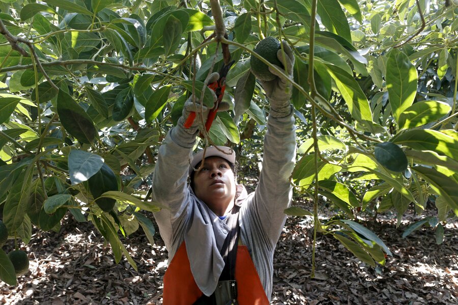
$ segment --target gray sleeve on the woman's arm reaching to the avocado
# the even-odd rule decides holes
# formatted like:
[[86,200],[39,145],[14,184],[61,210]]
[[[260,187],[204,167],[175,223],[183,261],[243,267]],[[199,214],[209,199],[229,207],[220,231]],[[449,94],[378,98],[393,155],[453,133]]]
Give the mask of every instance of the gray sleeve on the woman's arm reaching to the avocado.
[[273,248],[286,220],[283,210],[291,205],[293,188],[290,176],[295,160],[296,132],[293,111],[286,117],[269,117],[259,184],[247,205],[247,212],[251,222],[260,230],[258,234]]

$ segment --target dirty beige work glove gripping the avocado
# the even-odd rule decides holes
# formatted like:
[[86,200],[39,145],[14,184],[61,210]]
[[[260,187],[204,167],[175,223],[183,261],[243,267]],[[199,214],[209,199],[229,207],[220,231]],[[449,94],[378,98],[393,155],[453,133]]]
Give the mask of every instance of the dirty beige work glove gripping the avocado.
[[[294,54],[291,47],[286,41],[282,42],[283,51],[281,48],[277,51],[277,58],[280,63],[286,69],[281,69],[276,66],[284,74],[288,75],[290,79],[293,78],[293,67],[294,67]],[[264,88],[264,92],[270,101],[270,114],[272,117],[285,117],[291,113],[291,96],[293,94],[293,84],[285,79],[277,71],[269,67],[269,71],[276,75],[273,80],[261,81],[261,85]],[[253,73],[254,74],[254,73]],[[256,76],[256,74],[254,74]]]

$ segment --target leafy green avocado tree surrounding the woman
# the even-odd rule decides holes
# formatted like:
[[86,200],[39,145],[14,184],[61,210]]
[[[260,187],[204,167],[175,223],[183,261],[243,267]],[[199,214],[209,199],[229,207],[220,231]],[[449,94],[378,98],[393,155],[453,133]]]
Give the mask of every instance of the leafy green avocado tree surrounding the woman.
[[[237,145],[242,155],[261,146],[269,103],[250,67],[278,69],[269,43],[253,51],[268,37],[295,53],[292,181],[314,200],[313,211],[287,214],[313,217],[315,237],[331,234],[373,266],[390,251],[360,213],[391,209],[400,222],[434,202],[437,217],[405,235],[428,223],[438,243],[458,215],[454,2],[2,0],[0,9],[0,204],[16,248],[32,226],[59,231],[70,213],[136,268],[119,236],[141,227],[154,242],[140,210],[161,208],[139,186],[151,185],[187,97],[213,106],[204,81],[228,58],[233,109],[198,145]],[[324,198],[338,214],[327,222],[318,219]],[[3,250],[0,264],[14,285]]]

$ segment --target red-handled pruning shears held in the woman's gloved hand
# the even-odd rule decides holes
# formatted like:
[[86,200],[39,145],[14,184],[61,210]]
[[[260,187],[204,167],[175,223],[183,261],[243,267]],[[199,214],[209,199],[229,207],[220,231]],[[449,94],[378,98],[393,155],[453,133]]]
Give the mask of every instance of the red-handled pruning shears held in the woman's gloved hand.
[[[213,120],[216,117],[216,112],[218,111],[219,104],[221,103],[221,100],[224,96],[224,90],[226,88],[226,75],[234,63],[235,63],[235,60],[232,60],[231,62],[228,62],[227,64],[223,64],[221,69],[219,70],[219,79],[215,82],[208,84],[208,87],[215,92],[216,102],[215,102],[215,106],[208,113],[207,121],[205,123],[206,131],[210,130],[210,127],[213,124]],[[183,127],[190,128],[192,126],[192,123],[194,122],[194,119],[195,119],[195,112],[191,112],[188,118],[186,119]]]

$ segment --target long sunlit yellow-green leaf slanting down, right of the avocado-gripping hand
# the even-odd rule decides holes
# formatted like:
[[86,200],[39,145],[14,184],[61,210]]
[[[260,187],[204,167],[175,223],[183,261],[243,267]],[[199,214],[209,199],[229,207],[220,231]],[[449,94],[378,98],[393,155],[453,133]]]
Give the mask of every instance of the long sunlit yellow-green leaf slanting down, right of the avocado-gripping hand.
[[370,128],[372,126],[372,113],[370,111],[369,101],[356,80],[337,66],[327,65],[326,67],[334,79],[340,94],[347,103],[353,118],[361,123],[361,125]]

